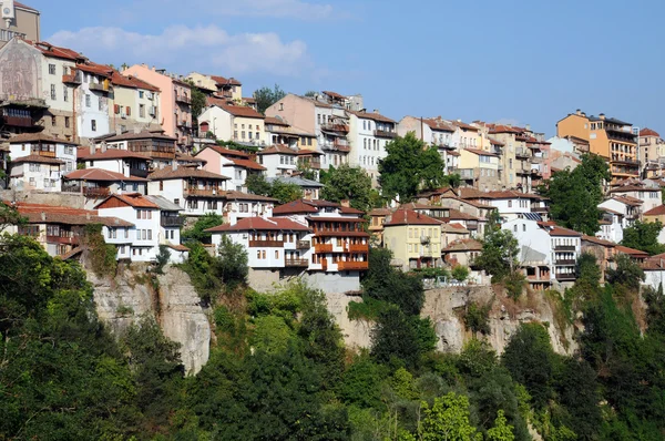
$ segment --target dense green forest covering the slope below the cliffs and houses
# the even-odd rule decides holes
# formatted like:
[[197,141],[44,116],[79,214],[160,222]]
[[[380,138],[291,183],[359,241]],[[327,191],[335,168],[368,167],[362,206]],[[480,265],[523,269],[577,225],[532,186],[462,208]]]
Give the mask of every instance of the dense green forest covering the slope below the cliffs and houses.
[[[371,249],[364,302],[371,348],[345,348],[323,293],[244,284],[226,244],[193,247],[184,268],[214,326],[206,366],[186,377],[152,317],[112,336],[75,261],[31,238],[0,239],[0,440],[662,440],[665,300],[622,259],[601,285],[592,256],[557,301],[579,351],[555,353],[548,322],[505,351],[484,341],[482,308],[461,353],[434,350],[422,279]],[[164,268],[168,270],[168,267]],[[646,309],[641,305],[646,305]]]

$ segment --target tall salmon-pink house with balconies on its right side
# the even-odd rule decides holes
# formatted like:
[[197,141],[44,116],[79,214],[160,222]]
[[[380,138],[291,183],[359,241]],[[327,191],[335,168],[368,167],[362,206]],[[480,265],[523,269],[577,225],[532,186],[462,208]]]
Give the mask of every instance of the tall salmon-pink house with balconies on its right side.
[[184,78],[170,75],[163,69],[151,69],[146,64],[126,68],[123,75],[135,76],[162,91],[160,121],[165,134],[177,139],[181,146],[192,145],[192,88]]

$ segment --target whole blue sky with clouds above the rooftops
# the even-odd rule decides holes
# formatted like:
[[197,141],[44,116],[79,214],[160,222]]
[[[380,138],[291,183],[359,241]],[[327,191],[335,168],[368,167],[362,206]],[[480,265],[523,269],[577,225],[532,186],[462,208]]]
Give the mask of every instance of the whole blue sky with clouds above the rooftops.
[[665,135],[655,0],[22,0],[98,63],[235,76],[243,94],[361,93],[368,110],[555,134],[581,109]]

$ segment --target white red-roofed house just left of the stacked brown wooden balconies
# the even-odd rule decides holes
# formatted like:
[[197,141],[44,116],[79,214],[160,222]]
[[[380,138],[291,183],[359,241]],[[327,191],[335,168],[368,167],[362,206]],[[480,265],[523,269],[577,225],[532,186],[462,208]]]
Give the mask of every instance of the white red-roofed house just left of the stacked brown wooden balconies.
[[213,245],[218,249],[222,236],[241,244],[247,252],[248,281],[254,289],[266,290],[287,277],[298,276],[309,268],[311,229],[288,218],[253,216],[235,224],[209,228]]

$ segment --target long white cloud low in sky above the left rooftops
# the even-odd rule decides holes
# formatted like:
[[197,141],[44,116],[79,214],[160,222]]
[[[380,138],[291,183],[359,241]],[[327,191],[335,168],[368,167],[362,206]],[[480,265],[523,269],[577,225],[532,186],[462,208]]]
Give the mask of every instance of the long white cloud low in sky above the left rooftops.
[[[280,0],[275,0],[280,1]],[[224,74],[268,72],[297,76],[311,68],[307,45],[283,42],[276,33],[228,34],[217,25],[173,25],[161,34],[95,27],[59,31],[47,41],[83,53],[98,63],[146,63],[177,71],[215,70]]]

